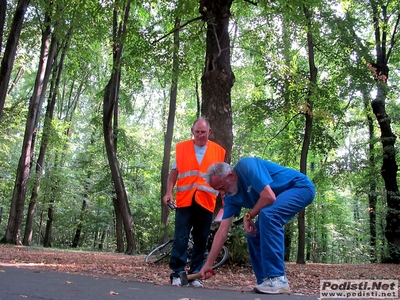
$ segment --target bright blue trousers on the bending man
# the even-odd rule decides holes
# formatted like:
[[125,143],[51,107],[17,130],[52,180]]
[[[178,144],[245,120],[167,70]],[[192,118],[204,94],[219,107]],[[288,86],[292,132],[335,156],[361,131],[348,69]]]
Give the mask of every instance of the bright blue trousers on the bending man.
[[258,284],[265,278],[285,275],[283,225],[309,205],[314,197],[313,185],[293,187],[278,195],[272,205],[261,209],[255,222],[256,235],[247,234],[251,264]]

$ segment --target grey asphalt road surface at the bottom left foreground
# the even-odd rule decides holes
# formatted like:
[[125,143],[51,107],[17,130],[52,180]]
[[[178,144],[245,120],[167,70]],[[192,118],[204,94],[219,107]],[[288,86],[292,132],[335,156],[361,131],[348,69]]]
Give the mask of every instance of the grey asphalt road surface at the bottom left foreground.
[[0,300],[316,300],[298,295],[175,287],[0,265]]

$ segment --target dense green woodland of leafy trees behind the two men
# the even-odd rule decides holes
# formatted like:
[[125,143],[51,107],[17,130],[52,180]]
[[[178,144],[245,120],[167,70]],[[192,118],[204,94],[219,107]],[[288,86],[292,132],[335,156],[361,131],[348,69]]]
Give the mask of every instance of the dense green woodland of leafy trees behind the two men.
[[1,0],[1,241],[146,253],[205,116],[228,162],[315,183],[288,261],[399,263],[399,22],[398,0]]

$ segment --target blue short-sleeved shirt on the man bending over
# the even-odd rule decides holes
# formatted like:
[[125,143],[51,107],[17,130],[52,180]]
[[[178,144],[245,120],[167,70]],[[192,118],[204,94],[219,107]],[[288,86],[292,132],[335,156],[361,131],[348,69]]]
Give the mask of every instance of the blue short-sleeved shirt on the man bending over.
[[251,209],[269,185],[276,196],[293,187],[313,186],[303,173],[257,157],[245,157],[233,168],[238,176],[236,195],[225,195],[224,216],[239,216],[242,207]]

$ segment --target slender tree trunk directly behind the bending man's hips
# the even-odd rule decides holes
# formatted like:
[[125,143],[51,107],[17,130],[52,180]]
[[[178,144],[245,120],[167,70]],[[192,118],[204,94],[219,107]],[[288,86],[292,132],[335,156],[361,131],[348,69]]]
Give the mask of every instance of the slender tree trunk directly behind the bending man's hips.
[[[303,174],[307,174],[307,156],[308,149],[310,148],[311,142],[311,131],[312,131],[312,111],[313,111],[313,102],[312,96],[314,94],[314,86],[317,82],[317,68],[315,67],[314,62],[314,42],[312,36],[311,29],[311,13],[310,11],[304,7],[304,15],[306,17],[308,23],[308,32],[307,32],[307,45],[308,45],[308,65],[310,68],[310,83],[308,86],[308,98],[307,98],[307,110],[304,112],[306,116],[306,125],[304,129],[304,139],[303,146],[301,148],[301,158],[300,158],[300,172]],[[305,231],[305,209],[302,209],[298,214],[298,249],[297,249],[297,263],[305,264],[305,243],[306,243],[306,231]]]

